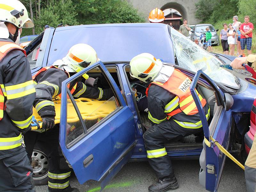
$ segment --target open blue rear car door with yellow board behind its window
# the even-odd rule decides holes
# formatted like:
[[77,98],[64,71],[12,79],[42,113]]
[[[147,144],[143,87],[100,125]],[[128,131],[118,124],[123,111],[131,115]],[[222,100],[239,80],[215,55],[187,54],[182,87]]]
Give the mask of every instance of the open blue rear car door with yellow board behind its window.
[[[93,70],[101,71],[114,96],[108,101],[84,98],[74,100],[67,88],[68,84]],[[87,180],[96,180],[100,181],[103,189],[132,155],[135,146],[133,114],[101,61],[68,78],[62,83],[61,89],[60,146],[63,155],[73,168],[80,184]],[[82,108],[79,106],[81,103]],[[99,107],[95,107],[99,103]],[[84,119],[83,116],[93,107],[96,109]],[[72,117],[75,113],[78,119],[70,122],[70,119],[75,118]],[[93,118],[99,114],[107,116]],[[71,131],[73,129],[76,132]]]

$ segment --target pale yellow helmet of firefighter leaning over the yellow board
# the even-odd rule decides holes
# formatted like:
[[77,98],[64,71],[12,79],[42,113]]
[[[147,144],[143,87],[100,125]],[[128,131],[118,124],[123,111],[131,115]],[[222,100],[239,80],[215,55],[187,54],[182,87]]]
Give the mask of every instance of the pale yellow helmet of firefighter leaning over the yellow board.
[[66,57],[62,58],[63,65],[68,66],[65,70],[68,72],[79,72],[84,68],[98,61],[96,51],[88,44],[73,45]]

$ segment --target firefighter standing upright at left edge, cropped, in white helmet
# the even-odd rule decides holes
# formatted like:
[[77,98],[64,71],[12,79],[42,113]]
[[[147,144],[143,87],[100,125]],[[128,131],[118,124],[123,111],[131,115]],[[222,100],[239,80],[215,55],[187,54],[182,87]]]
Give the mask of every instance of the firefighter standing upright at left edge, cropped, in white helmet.
[[35,191],[22,134],[30,129],[36,90],[18,46],[22,27],[33,26],[20,1],[0,0],[0,183],[6,192]]

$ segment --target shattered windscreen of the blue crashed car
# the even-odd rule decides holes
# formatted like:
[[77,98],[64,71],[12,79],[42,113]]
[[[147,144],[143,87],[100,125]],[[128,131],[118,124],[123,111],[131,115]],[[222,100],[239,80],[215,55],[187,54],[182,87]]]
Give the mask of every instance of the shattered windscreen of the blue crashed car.
[[237,78],[220,67],[223,64],[220,60],[173,28],[171,28],[171,36],[180,67],[194,72],[201,69],[212,80],[227,86],[239,88],[240,85]]

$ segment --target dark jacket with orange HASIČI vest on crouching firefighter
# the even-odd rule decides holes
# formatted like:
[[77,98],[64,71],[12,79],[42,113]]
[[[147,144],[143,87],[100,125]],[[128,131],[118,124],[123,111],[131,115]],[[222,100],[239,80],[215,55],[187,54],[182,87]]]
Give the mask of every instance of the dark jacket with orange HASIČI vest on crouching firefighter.
[[[195,102],[189,91],[190,84],[190,79],[176,69],[166,83],[150,84],[146,92],[148,94],[148,118],[155,124],[166,119],[173,119],[184,128],[202,127]],[[202,96],[198,92],[197,94],[208,119],[210,108]]]

